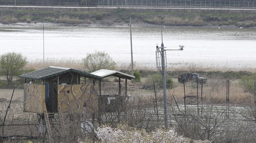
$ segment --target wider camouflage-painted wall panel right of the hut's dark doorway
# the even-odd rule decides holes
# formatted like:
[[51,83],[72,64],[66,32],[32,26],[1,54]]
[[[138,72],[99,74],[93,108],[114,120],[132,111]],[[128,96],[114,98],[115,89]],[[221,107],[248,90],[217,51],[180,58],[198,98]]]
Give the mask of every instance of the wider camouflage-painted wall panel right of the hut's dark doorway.
[[98,108],[98,85],[58,85],[58,111],[82,113],[84,103],[87,112]]

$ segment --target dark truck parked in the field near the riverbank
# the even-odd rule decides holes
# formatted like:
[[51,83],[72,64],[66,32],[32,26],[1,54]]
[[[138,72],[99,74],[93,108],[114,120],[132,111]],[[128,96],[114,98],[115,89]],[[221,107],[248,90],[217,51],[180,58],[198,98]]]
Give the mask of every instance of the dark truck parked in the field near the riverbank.
[[192,73],[192,72],[180,74],[178,78],[178,82],[180,83],[187,82],[187,81],[197,82],[197,79],[198,79],[198,83],[203,82],[203,84],[206,84],[207,82],[207,78],[199,77],[199,74]]

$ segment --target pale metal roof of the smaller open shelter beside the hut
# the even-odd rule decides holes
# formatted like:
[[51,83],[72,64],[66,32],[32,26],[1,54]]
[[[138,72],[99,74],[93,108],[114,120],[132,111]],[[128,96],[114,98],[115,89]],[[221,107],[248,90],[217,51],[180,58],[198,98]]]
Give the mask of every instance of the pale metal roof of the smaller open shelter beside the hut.
[[101,70],[97,70],[95,72],[92,72],[91,74],[93,75],[97,75],[97,76],[101,76],[101,77],[108,77],[108,76],[115,76],[115,77],[120,77],[122,79],[134,79],[135,76],[132,75],[128,75],[119,71],[115,71],[115,70],[108,70],[108,69],[101,69]]

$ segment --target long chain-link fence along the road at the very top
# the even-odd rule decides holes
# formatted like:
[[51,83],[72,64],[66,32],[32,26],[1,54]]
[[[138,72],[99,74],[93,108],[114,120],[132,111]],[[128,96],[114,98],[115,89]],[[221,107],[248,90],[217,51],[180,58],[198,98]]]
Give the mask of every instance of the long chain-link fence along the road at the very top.
[[67,0],[0,1],[1,6],[22,7],[127,7],[127,8],[255,8],[255,1],[197,0]]

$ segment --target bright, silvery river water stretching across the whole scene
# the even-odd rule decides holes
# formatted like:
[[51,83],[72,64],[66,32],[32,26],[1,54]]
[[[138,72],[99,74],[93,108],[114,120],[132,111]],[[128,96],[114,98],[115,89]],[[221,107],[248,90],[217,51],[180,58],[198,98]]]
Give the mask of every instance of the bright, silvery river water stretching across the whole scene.
[[[156,65],[156,43],[161,27],[132,27],[133,61]],[[256,67],[256,29],[163,27],[167,64]],[[18,52],[28,60],[81,60],[105,51],[117,63],[131,62],[130,27],[82,27],[52,25],[0,25],[0,55]]]

